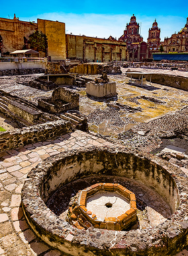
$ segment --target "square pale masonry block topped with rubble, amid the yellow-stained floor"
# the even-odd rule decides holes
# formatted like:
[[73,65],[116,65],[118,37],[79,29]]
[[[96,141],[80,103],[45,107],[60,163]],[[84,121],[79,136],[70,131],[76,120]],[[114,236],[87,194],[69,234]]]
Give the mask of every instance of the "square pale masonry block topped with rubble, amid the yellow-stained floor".
[[116,84],[115,82],[109,82],[107,73],[103,71],[103,75],[95,78],[95,82],[87,83],[86,93],[97,98],[117,96]]

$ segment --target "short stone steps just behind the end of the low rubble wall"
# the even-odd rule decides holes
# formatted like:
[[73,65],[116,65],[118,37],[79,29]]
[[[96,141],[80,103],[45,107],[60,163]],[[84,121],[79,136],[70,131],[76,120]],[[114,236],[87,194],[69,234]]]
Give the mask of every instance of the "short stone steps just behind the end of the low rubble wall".
[[88,129],[87,118],[77,110],[71,110],[69,112],[62,113],[59,115],[59,117],[65,121],[70,122],[75,129],[82,131],[87,131]]

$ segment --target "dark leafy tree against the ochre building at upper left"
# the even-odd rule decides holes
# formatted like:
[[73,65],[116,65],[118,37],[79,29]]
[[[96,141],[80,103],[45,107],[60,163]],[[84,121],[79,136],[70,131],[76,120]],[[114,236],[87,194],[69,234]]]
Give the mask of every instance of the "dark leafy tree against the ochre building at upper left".
[[31,49],[47,53],[48,39],[46,34],[43,34],[42,32],[36,30],[33,34],[29,36],[29,44]]

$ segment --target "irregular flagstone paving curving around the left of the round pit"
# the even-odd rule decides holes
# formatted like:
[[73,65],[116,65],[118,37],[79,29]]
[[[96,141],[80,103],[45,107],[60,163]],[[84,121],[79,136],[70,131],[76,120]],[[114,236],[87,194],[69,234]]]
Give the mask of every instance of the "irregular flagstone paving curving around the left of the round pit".
[[21,189],[28,172],[42,160],[72,150],[112,144],[83,131],[75,131],[17,150],[0,154],[0,255],[5,256],[60,256],[42,243],[29,228],[21,211]]

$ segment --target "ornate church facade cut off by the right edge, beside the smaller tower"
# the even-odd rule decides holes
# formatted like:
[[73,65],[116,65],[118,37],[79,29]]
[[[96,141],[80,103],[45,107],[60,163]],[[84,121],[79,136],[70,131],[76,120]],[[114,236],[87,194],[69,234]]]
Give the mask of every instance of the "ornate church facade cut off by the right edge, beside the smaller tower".
[[188,52],[188,17],[185,27],[170,38],[164,38],[164,53]]

